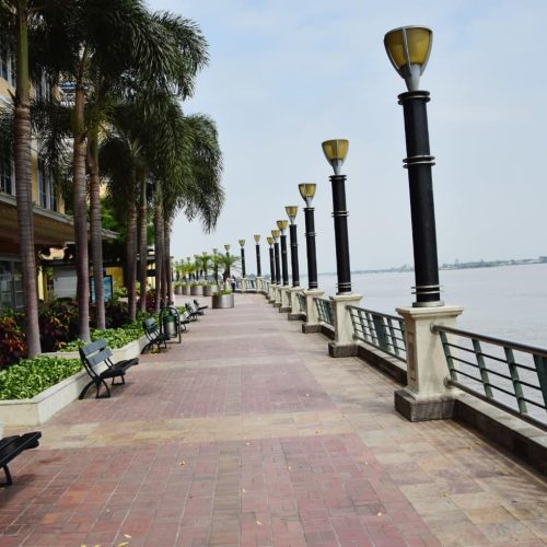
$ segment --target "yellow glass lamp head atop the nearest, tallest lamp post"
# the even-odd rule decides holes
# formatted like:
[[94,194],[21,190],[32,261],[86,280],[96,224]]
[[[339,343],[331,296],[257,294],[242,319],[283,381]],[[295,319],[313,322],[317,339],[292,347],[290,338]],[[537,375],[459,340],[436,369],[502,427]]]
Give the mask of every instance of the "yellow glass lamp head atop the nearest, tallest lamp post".
[[384,36],[387,57],[408,91],[417,91],[431,54],[433,32],[426,26],[401,26]]

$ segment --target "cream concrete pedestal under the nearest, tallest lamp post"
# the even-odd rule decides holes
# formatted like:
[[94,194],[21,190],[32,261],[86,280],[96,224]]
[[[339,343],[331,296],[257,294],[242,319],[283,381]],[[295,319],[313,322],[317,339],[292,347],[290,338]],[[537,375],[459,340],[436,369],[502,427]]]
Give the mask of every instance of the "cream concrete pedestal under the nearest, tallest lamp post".
[[397,307],[405,319],[407,386],[395,392],[395,408],[411,421],[451,418],[457,389],[446,387],[446,358],[434,323],[456,326],[463,307]]

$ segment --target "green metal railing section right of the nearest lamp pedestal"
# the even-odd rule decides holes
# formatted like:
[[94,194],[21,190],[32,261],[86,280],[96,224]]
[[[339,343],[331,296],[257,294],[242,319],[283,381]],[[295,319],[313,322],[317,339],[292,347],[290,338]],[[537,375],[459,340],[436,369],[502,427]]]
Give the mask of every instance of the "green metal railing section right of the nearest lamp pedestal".
[[443,325],[432,329],[441,337],[451,385],[547,424],[547,349]]

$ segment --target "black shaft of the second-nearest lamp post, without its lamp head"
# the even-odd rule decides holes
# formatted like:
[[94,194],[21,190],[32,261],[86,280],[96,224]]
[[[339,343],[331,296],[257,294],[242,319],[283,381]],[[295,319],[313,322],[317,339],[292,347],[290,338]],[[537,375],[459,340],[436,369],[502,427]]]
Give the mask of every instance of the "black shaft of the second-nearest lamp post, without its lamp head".
[[346,175],[331,175],[330,183],[333,184],[333,218],[338,275],[337,294],[348,294],[351,292],[351,270],[349,265],[348,211],[346,209]]

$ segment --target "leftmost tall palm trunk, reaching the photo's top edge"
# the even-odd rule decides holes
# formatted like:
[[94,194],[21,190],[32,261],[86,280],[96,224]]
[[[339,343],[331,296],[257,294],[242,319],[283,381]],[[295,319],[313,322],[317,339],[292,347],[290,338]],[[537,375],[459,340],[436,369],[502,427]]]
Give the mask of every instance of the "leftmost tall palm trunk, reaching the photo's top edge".
[[34,254],[33,201],[31,179],[31,110],[28,81],[28,5],[19,0],[18,77],[15,90],[15,193],[18,203],[18,236],[23,272],[23,301],[26,312],[26,344],[28,357],[40,352],[38,326],[38,293]]

